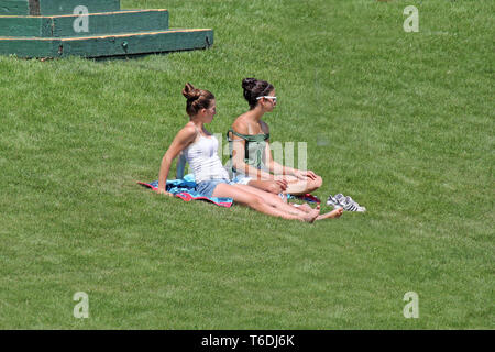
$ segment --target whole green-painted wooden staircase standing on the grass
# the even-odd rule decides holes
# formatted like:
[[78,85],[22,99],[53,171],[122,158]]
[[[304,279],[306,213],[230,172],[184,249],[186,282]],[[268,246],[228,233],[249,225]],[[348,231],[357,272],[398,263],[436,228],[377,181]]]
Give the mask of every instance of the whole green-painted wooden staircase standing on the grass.
[[210,29],[169,29],[167,10],[121,10],[120,0],[0,0],[0,55],[108,57],[212,44]]

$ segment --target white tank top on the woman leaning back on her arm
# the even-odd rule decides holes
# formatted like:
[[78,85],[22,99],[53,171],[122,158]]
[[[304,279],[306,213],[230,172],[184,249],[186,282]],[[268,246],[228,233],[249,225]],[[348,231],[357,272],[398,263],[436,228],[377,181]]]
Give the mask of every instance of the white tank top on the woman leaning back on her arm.
[[197,184],[209,179],[230,179],[217,151],[218,140],[215,135],[207,138],[202,134],[199,134],[199,140],[184,150],[183,153],[193,169]]

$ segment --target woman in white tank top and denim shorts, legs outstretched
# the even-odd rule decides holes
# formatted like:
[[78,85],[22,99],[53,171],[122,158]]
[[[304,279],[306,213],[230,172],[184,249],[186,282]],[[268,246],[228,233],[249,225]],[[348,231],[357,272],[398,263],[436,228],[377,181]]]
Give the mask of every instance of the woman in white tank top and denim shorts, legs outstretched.
[[166,191],[166,179],[172,162],[183,153],[195,175],[196,190],[207,197],[232,198],[234,202],[273,217],[307,222],[342,215],[341,209],[320,215],[319,207],[312,209],[306,205],[296,208],[284,202],[277,195],[231,182],[217,154],[218,140],[205,128],[205,123],[210,123],[216,114],[215,96],[208,90],[196,89],[190,84],[186,85],[183,95],[187,99],[189,122],[177,133],[162,158],[158,194],[172,196]]

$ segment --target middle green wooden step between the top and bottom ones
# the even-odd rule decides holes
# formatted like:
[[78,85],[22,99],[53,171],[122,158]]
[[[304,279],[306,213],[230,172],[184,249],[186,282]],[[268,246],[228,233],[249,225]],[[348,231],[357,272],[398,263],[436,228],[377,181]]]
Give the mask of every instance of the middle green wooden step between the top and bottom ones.
[[[79,15],[23,16],[0,15],[0,36],[73,37],[97,34],[168,30],[167,10],[129,10],[90,13],[88,32],[80,29]],[[76,26],[76,29],[75,29]]]

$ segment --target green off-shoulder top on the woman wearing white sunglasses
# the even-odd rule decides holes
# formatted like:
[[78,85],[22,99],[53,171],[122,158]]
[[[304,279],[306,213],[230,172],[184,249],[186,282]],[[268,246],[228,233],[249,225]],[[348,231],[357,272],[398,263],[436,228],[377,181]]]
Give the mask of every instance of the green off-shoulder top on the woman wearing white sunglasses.
[[241,134],[235,132],[232,129],[229,129],[227,132],[227,141],[229,141],[229,151],[230,158],[229,163],[232,166],[232,172],[235,173],[235,168],[232,165],[232,150],[233,150],[233,139],[230,138],[230,133],[235,134],[237,136],[243,139],[244,143],[244,163],[256,167],[258,169],[267,169],[264,164],[264,155],[266,141],[270,140],[270,133],[260,133],[260,134]]

